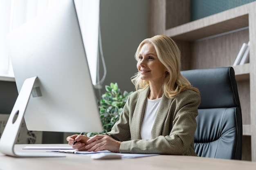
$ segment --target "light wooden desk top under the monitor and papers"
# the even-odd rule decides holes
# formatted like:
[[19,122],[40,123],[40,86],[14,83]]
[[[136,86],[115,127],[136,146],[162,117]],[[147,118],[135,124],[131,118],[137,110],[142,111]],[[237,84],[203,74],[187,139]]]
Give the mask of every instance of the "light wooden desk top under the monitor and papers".
[[[22,152],[28,145],[15,145]],[[67,146],[40,144],[29,146]],[[65,154],[65,153],[56,153]],[[0,153],[0,170],[255,170],[256,162],[203,157],[157,155],[133,159],[94,160],[85,155],[65,154],[66,157],[14,158]]]

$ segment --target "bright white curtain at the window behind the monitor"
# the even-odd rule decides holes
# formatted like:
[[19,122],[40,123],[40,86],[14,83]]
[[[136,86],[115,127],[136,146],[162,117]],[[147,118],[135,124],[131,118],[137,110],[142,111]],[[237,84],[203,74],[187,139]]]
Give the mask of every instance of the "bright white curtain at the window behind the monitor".
[[[0,0],[0,76],[13,77],[5,35],[61,0]],[[75,0],[93,84],[97,79],[99,0]],[[89,43],[90,42],[90,43]]]

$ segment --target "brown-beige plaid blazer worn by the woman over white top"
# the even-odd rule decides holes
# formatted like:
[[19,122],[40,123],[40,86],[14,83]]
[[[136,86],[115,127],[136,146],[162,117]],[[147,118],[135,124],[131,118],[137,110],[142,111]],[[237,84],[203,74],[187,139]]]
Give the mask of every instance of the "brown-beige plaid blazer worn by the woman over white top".
[[197,156],[194,134],[200,94],[185,90],[174,99],[163,94],[151,131],[151,140],[142,140],[140,128],[149,92],[148,87],[144,91],[132,93],[119,121],[106,135],[122,141],[121,153]]

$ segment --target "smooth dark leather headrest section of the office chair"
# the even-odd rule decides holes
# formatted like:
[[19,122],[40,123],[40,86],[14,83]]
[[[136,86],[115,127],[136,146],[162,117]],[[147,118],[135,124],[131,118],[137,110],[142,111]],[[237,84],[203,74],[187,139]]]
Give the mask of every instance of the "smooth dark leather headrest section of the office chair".
[[200,91],[199,108],[240,107],[233,67],[181,71],[192,86]]

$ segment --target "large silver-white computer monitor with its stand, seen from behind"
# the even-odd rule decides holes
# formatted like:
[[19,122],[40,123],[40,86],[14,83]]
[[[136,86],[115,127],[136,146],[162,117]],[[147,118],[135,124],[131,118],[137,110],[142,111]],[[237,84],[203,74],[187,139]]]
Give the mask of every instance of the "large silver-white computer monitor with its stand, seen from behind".
[[19,95],[0,152],[17,156],[6,147],[14,144],[23,114],[28,130],[102,131],[73,0],[62,0],[12,31],[7,40]]

